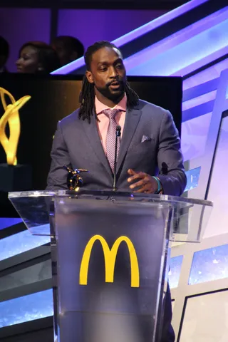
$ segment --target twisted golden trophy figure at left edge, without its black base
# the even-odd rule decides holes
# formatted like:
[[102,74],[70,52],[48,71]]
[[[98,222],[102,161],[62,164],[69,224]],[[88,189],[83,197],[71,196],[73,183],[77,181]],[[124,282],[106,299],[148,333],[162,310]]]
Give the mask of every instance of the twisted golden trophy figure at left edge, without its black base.
[[[6,95],[8,95],[11,100],[9,105],[6,104]],[[0,119],[0,143],[6,152],[7,164],[16,165],[16,151],[21,133],[19,109],[31,98],[31,96],[26,95],[16,101],[14,96],[4,88],[0,88],[0,96],[1,104],[5,110],[4,115],[2,115]],[[9,123],[9,138],[6,135],[6,123]]]

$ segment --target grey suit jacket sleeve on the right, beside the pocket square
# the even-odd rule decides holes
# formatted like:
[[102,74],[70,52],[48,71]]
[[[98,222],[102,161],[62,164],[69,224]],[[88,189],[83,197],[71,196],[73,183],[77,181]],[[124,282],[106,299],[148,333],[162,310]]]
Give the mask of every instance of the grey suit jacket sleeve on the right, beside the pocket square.
[[160,126],[157,165],[163,193],[173,196],[182,195],[187,179],[180,149],[180,137],[168,110],[165,110]]

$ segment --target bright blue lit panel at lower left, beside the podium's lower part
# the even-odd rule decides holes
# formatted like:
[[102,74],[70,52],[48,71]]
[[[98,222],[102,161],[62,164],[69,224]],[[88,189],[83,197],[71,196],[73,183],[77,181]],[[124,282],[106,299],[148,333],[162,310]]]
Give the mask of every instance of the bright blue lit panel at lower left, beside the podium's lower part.
[[0,328],[53,316],[52,289],[0,303]]

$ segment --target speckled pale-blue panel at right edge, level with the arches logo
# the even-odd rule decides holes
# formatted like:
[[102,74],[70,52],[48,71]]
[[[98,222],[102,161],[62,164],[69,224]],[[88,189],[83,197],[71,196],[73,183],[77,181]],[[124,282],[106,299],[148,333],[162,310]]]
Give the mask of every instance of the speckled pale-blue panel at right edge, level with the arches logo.
[[200,284],[228,277],[228,244],[195,252],[189,284]]

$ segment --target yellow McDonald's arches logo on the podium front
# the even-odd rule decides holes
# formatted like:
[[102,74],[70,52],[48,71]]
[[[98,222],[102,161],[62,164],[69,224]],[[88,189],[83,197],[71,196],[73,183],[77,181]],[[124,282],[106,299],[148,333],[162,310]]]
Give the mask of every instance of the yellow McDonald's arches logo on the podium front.
[[135,252],[135,247],[128,237],[119,237],[115,240],[113,247],[110,249],[107,242],[100,235],[94,235],[91,237],[83,253],[83,258],[81,259],[81,268],[79,274],[79,284],[87,285],[88,279],[88,264],[90,262],[90,254],[93,248],[94,242],[98,240],[103,247],[103,253],[105,258],[105,282],[113,283],[114,279],[114,269],[115,269],[115,259],[120,247],[121,242],[125,242],[128,246],[128,251],[130,254],[130,269],[131,269],[131,287],[140,286],[140,272],[138,268],[138,257]]

